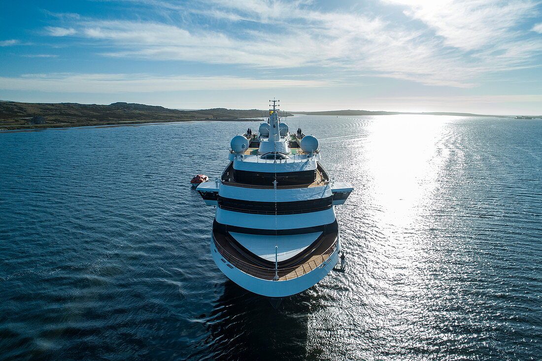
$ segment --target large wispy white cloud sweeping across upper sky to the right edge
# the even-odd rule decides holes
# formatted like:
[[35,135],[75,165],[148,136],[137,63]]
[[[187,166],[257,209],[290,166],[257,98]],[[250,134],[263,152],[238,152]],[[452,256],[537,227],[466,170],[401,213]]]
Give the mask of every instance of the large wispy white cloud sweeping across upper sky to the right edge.
[[323,11],[311,1],[132,2],[167,16],[154,22],[72,16],[63,18],[65,27],[46,30],[86,38],[111,57],[299,72],[319,66],[346,77],[451,87],[473,87],[486,74],[535,66],[542,51],[542,41],[521,30],[538,14],[531,0],[383,0],[382,7],[402,7],[412,20],[402,22],[354,10]]

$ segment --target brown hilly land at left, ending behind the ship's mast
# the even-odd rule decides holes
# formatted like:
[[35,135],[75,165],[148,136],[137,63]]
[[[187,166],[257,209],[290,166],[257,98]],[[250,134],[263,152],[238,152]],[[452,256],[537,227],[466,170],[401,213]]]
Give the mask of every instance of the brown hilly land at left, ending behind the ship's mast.
[[[24,103],[0,101],[0,129],[78,127],[162,123],[190,120],[251,120],[267,117],[259,109],[201,109],[194,111],[116,102],[109,105],[79,103]],[[281,117],[292,113],[280,112]]]

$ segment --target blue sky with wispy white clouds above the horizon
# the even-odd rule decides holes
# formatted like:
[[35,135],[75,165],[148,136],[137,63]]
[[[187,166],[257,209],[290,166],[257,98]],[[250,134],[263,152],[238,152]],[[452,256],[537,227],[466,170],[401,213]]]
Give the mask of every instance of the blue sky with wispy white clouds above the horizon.
[[[21,5],[22,4],[22,5]],[[3,2],[0,99],[542,114],[542,1]]]

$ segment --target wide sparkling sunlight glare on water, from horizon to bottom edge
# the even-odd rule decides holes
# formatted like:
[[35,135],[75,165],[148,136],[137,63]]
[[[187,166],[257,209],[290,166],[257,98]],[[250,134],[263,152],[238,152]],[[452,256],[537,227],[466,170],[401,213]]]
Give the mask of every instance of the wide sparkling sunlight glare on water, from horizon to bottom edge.
[[[483,359],[495,346],[488,331],[495,326],[487,310],[477,313],[480,299],[471,304],[478,287],[463,283],[469,273],[483,278],[485,268],[480,251],[466,246],[473,230],[464,223],[478,215],[464,217],[472,212],[469,204],[492,197],[470,169],[487,159],[488,149],[478,149],[486,140],[472,139],[486,137],[487,129],[473,131],[457,117],[375,118],[356,121],[356,137],[341,138],[340,151],[336,139],[323,141],[322,153],[333,153],[332,163],[339,165],[335,179],[352,180],[356,191],[337,209],[350,272],[338,285],[325,280],[337,290],[326,304],[340,306],[309,317],[309,354],[341,360]],[[494,246],[486,247],[487,254]],[[322,338],[332,341],[322,348]],[[476,346],[481,349],[470,356],[462,351]]]

